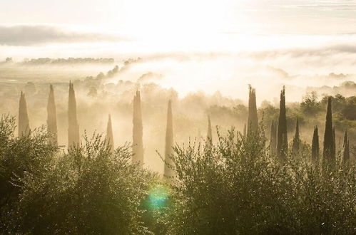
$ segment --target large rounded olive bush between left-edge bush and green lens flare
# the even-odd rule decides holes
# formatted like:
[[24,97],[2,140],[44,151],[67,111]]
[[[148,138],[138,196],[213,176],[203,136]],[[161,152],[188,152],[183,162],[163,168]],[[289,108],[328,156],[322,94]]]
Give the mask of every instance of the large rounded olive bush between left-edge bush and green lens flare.
[[100,136],[84,136],[48,162],[21,178],[16,228],[6,234],[149,234],[140,207],[153,175],[131,163],[129,146],[111,152]]

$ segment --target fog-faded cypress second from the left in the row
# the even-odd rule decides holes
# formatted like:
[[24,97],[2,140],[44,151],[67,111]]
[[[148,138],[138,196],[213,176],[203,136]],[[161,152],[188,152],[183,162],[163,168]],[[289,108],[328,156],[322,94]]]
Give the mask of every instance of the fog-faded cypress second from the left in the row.
[[57,137],[57,114],[54,100],[54,88],[49,85],[49,99],[47,101],[47,131],[51,134],[51,142],[58,145]]

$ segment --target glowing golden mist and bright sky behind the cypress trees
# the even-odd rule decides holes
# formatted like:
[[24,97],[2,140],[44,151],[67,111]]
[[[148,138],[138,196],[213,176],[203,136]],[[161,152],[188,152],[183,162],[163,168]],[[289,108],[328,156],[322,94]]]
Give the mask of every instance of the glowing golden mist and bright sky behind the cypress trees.
[[[147,162],[158,160],[156,150],[164,147],[168,98],[176,101],[176,140],[183,141],[206,135],[211,106],[245,104],[248,84],[257,90],[258,105],[276,105],[283,85],[289,103],[310,90],[320,97],[355,94],[344,82],[356,81],[356,1],[14,0],[0,6],[0,61],[13,61],[0,64],[3,113],[17,115],[19,91],[27,89],[31,127],[45,124],[48,85],[54,83],[62,145],[69,80],[76,81],[81,134],[104,132],[111,113],[116,145],[131,141],[131,101],[142,89]],[[115,62],[22,63],[44,57]],[[87,78],[116,65],[124,69],[100,83]],[[33,93],[28,82],[36,86]],[[88,95],[92,87],[95,97]],[[241,130],[244,120],[231,115],[212,121]],[[161,162],[149,164],[162,168]]]

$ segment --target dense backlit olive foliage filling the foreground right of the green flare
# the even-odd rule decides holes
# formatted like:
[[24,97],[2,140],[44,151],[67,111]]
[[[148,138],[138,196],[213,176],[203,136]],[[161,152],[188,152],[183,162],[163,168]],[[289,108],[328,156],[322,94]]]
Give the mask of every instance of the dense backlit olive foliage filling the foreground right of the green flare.
[[322,169],[310,152],[281,166],[263,135],[174,148],[171,234],[352,234],[355,167]]

